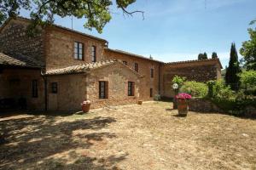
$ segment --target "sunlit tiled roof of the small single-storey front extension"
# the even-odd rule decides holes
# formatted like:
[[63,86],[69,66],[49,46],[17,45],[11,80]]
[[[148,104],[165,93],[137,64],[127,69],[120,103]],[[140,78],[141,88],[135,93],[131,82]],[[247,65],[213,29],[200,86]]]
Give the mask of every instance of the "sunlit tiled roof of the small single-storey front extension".
[[121,61],[117,59],[109,59],[105,61],[98,61],[95,63],[85,63],[81,65],[73,65],[73,66],[67,66],[65,68],[49,70],[45,72],[45,76],[83,73],[83,72],[92,71],[98,68],[102,68],[102,67],[114,65],[114,64],[123,65],[133,73],[137,74],[137,76],[142,77],[136,71],[133,71],[130,67],[124,65]]

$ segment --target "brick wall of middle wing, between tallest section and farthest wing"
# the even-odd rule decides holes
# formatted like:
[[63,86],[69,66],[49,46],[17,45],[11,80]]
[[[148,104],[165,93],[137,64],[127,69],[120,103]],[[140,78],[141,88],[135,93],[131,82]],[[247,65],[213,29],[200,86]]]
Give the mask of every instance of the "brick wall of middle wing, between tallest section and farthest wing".
[[[138,73],[143,75],[143,81],[141,82],[141,95],[143,100],[151,100],[150,88],[153,88],[153,97],[155,94],[159,94],[159,70],[160,63],[148,59],[141,59],[129,54],[121,54],[113,51],[105,50],[105,56],[108,59],[120,59],[127,62],[127,66],[134,69],[134,64],[138,64]],[[150,77],[150,69],[154,69],[154,77]]]

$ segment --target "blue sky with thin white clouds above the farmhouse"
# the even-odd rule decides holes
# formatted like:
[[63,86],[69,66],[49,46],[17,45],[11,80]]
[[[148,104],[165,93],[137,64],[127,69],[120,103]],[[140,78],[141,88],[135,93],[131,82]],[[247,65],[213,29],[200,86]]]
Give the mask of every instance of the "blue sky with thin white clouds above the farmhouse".
[[[137,0],[128,9],[145,12],[127,17],[112,8],[113,19],[103,33],[85,30],[84,20],[73,19],[73,29],[102,37],[109,48],[142,54],[165,62],[208,57],[215,51],[228,65],[231,42],[241,48],[248,39],[249,22],[256,18],[255,0]],[[28,16],[26,12],[21,15]],[[71,28],[71,18],[55,23]]]

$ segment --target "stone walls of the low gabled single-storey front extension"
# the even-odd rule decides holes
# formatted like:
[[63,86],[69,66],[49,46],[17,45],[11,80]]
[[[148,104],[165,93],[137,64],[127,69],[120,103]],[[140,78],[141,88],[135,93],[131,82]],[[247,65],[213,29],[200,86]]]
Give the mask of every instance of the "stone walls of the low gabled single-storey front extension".
[[[89,99],[91,108],[137,103],[140,80],[122,64],[109,65],[90,73],[47,77],[49,111],[80,111]],[[99,81],[108,81],[108,99],[99,99]],[[135,95],[128,96],[128,81],[135,82]],[[58,93],[51,93],[51,82],[58,83]]]

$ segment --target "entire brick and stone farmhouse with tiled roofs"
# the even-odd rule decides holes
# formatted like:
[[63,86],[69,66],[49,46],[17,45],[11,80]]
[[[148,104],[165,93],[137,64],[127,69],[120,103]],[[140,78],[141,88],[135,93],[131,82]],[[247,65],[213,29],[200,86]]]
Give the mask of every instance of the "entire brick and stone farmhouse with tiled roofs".
[[31,20],[17,17],[0,28],[2,107],[79,111],[173,97],[172,77],[206,82],[221,77],[219,59],[164,63],[108,48],[108,41],[62,26],[46,26],[28,37]]

